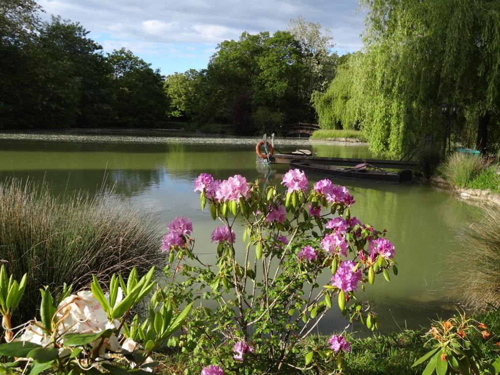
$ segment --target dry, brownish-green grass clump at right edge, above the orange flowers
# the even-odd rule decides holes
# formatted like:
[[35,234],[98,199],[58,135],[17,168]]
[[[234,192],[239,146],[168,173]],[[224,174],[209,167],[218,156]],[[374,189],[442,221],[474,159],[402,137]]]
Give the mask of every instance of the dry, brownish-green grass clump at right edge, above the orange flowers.
[[500,305],[500,208],[487,207],[459,236],[463,251],[450,263],[456,289],[472,307]]

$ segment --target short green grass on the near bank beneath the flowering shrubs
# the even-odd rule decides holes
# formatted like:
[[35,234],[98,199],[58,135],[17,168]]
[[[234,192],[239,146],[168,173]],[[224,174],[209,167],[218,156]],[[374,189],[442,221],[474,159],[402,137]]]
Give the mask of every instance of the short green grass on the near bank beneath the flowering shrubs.
[[[500,312],[491,307],[489,312],[479,313],[473,316],[471,324],[477,327],[483,323],[490,336],[482,338],[478,329],[473,329],[469,339],[474,342],[482,353],[481,361],[492,363],[498,357],[498,333],[500,332]],[[345,375],[417,375],[424,370],[427,361],[411,367],[414,361],[427,353],[435,343],[427,342],[428,337],[423,337],[428,328],[422,330],[403,330],[389,334],[374,334],[366,338],[354,338],[347,335],[346,339],[351,344],[351,351],[344,354]],[[310,337],[308,344],[325,343],[328,336]],[[314,341],[314,342],[311,342]],[[297,352],[304,351],[298,347]],[[197,375],[202,365],[190,363],[190,353],[170,351],[158,354],[156,360],[159,363],[157,373],[163,375]],[[301,359],[303,360],[303,359]],[[303,367],[302,362],[294,363],[297,367]],[[281,374],[307,374],[327,375],[336,369],[336,363],[324,363],[321,366],[301,371],[292,367],[283,369]]]

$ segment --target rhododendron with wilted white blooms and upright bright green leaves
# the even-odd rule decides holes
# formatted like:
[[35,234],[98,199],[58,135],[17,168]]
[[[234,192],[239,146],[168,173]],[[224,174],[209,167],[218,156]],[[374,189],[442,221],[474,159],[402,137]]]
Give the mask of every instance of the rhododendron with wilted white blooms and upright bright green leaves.
[[[14,333],[10,321],[24,292],[26,275],[19,282],[7,278],[2,265],[0,313],[7,342],[0,344],[0,355],[11,361],[0,363],[0,373],[152,372],[156,365],[153,350],[165,344],[191,308],[188,304],[177,314],[156,292],[151,296],[156,285],[153,272],[154,267],[139,278],[133,268],[126,281],[113,274],[109,285],[101,285],[94,276],[90,290],[71,294],[71,286],[64,285],[58,297],[45,287],[40,290],[39,319],[26,322]],[[149,319],[130,317],[146,296],[151,297]]]

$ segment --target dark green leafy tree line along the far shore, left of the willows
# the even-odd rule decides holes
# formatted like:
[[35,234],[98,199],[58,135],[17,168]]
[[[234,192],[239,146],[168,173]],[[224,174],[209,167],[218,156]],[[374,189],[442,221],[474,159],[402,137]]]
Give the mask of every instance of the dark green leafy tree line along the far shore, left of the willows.
[[236,134],[316,120],[310,97],[333,78],[331,34],[302,17],[285,31],[243,32],[205,69],[166,77],[121,48],[104,53],[80,23],[41,21],[34,0],[0,0],[0,127],[229,124]]

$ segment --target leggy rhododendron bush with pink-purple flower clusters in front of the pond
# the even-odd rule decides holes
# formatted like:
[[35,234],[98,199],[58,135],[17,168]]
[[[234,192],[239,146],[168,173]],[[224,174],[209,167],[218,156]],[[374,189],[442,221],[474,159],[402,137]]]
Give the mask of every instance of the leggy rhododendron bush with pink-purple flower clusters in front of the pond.
[[[293,169],[281,185],[201,173],[194,190],[218,222],[210,237],[196,237],[195,246],[187,218],[168,225],[162,297],[175,306],[200,299],[169,344],[189,352],[203,374],[287,373],[318,362],[341,371],[350,350],[343,331],[319,347],[307,346],[305,337],[333,305],[346,318],[344,331],[355,321],[378,326],[359,293],[377,275],[389,281],[390,268],[397,274],[385,230],[353,216],[354,197],[328,179],[309,189],[305,174]],[[214,255],[206,260],[210,248]]]

